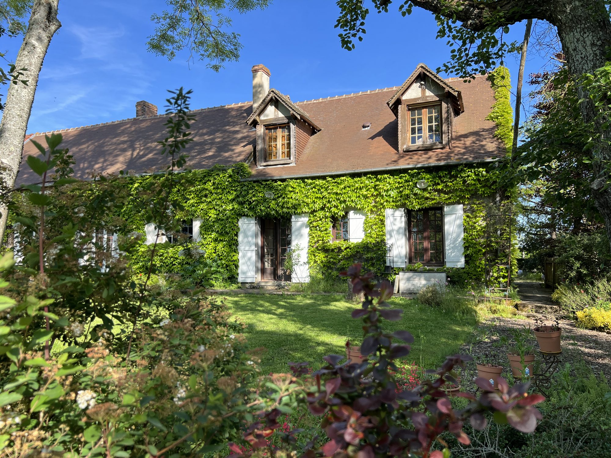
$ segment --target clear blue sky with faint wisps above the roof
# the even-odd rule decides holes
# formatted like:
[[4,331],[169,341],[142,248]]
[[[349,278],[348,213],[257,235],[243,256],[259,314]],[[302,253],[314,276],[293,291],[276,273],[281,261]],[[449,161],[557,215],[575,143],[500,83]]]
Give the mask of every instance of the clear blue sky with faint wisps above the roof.
[[[275,0],[266,10],[235,14],[233,29],[244,45],[240,62],[215,73],[204,62],[187,62],[186,54],[169,62],[147,52],[147,37],[154,29],[150,15],[161,12],[164,4],[60,1],[62,28],[46,55],[27,131],[134,117],[139,100],[158,105],[162,112],[166,89],[180,86],[194,90],[192,109],[248,101],[254,64],[271,70],[272,87],[301,101],[400,85],[419,62],[434,69],[450,55],[445,40],[435,39],[433,15],[421,9],[414,8],[406,18],[394,9],[372,13],[364,42],[348,52],[340,48],[334,29],[334,1]],[[279,38],[277,45],[266,38],[271,32]],[[510,39],[523,35],[523,24],[511,27]],[[21,40],[2,40],[0,51],[14,59]],[[544,64],[531,54],[527,73]],[[506,65],[515,85],[518,57],[508,57]]]

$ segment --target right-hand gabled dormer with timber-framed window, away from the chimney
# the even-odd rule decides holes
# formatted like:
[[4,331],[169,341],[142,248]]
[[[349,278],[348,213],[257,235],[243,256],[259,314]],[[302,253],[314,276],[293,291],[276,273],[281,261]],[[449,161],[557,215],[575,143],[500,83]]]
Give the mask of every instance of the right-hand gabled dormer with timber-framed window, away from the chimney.
[[387,102],[398,118],[399,152],[444,148],[453,119],[464,112],[461,92],[425,64]]

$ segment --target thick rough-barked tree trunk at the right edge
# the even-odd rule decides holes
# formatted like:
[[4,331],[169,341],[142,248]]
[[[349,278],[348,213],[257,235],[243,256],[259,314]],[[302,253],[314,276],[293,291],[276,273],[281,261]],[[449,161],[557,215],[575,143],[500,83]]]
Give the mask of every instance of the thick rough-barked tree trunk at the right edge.
[[[611,46],[611,21],[604,2],[596,0],[560,0],[552,12],[551,22],[558,27],[558,37],[566,56],[566,65],[571,75],[579,77],[592,73],[606,64],[607,50]],[[577,86],[580,111],[586,124],[593,124],[593,134],[598,137],[591,148],[595,180],[591,184],[596,208],[601,212],[611,244],[611,189],[609,171],[605,163],[611,161],[611,128],[604,128],[597,119],[594,104],[588,99],[587,90]],[[607,101],[607,103],[611,103]],[[609,106],[609,105],[607,105]]]

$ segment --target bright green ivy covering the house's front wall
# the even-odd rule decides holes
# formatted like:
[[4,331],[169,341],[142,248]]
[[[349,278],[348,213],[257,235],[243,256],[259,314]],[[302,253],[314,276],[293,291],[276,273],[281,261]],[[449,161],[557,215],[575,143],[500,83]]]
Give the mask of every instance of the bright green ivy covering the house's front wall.
[[[406,170],[381,175],[337,176],[309,180],[241,181],[249,176],[245,164],[230,169],[200,170],[194,173],[194,186],[177,189],[185,204],[185,218],[202,219],[200,247],[203,259],[225,278],[236,278],[238,269],[238,220],[242,216],[290,218],[307,213],[310,225],[309,265],[312,274],[324,274],[347,266],[355,253],[369,252],[386,238],[386,208],[419,209],[463,203],[465,269],[461,276],[480,280],[484,274],[483,238],[485,203],[496,195],[500,171],[494,164]],[[193,177],[192,177],[193,178]],[[130,186],[155,176],[132,178]],[[429,184],[424,190],[418,180]],[[274,198],[265,197],[271,191]],[[362,242],[331,243],[331,222],[346,211],[366,214]],[[138,208],[123,208],[123,217],[136,231],[144,229]],[[182,247],[158,248],[156,269],[180,272],[188,258]],[[142,245],[133,255],[136,269],[144,271],[149,247]]]

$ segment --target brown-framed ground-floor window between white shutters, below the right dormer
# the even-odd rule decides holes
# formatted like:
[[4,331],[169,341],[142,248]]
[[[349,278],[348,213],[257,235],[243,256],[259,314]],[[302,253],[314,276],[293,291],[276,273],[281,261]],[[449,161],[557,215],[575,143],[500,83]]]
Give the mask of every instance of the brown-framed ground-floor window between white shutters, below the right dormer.
[[409,212],[409,262],[444,263],[444,215],[441,208]]

